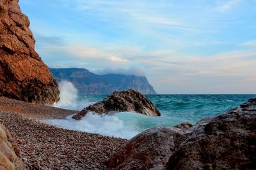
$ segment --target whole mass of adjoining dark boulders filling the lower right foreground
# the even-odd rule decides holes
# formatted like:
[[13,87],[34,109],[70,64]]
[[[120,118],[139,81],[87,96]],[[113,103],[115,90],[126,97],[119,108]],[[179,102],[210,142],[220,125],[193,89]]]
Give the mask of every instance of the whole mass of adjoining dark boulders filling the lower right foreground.
[[148,129],[114,153],[108,169],[256,169],[255,141],[253,98],[223,115],[200,120],[187,131]]

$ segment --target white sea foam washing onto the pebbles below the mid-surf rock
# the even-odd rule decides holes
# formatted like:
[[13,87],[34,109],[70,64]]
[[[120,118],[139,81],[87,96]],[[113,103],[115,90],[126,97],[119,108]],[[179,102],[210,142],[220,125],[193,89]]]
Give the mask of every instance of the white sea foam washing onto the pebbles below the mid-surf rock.
[[74,120],[70,115],[66,119],[49,119],[42,120],[42,122],[74,131],[97,133],[123,139],[131,139],[142,131],[142,129],[134,127],[134,124],[125,124],[116,114],[109,116],[88,113],[81,120]]

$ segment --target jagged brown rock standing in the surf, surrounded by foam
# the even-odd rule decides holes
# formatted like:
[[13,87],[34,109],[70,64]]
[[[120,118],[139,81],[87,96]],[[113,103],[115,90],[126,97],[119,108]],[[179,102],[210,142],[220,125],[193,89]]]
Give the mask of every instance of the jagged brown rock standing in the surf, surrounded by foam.
[[74,119],[80,120],[88,112],[115,113],[118,111],[132,111],[148,116],[160,116],[161,113],[154,107],[154,104],[145,96],[129,89],[122,92],[114,92],[103,101],[84,108],[80,113],[74,115]]

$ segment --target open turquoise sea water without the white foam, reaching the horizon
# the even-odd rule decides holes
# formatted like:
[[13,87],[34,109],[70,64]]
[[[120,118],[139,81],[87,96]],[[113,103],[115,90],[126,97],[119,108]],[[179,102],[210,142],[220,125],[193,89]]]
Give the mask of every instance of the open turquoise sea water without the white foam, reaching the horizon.
[[[160,94],[146,95],[162,113],[161,117],[147,117],[141,122],[141,127],[152,127],[191,122],[195,124],[204,117],[213,117],[246,102],[256,95],[180,95]],[[80,100],[92,103],[102,101],[106,95],[83,95]]]

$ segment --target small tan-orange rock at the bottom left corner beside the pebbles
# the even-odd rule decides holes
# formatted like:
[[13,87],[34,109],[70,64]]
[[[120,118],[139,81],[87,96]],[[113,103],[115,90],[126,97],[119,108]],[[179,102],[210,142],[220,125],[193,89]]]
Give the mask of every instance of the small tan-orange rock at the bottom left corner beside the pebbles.
[[20,149],[10,132],[0,124],[0,169],[26,169],[19,157]]

